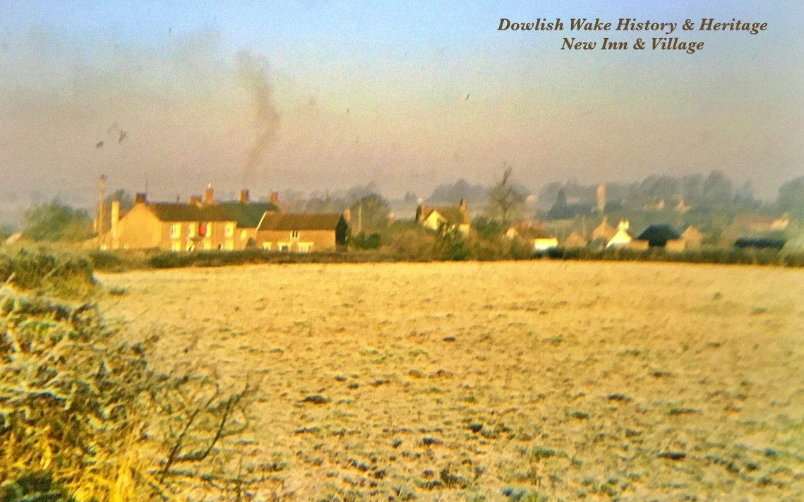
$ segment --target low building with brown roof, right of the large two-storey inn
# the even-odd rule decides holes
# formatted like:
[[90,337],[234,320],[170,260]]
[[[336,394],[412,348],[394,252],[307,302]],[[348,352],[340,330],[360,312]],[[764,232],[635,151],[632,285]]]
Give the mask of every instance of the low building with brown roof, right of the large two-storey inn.
[[256,245],[269,251],[310,253],[346,244],[348,223],[340,214],[265,212]]

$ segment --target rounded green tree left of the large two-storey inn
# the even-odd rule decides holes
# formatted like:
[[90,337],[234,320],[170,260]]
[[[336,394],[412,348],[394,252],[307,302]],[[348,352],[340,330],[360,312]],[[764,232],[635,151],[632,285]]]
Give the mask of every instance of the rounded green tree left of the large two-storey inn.
[[53,200],[23,214],[23,236],[34,241],[80,241],[91,235],[91,223],[84,209]]

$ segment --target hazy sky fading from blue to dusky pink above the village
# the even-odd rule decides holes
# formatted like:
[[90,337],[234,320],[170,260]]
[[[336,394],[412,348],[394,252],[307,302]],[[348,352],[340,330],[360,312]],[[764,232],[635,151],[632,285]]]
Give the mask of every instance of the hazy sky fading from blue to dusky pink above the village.
[[[498,30],[556,18],[564,30]],[[569,29],[583,18],[678,27]],[[699,31],[703,18],[767,27]],[[534,191],[719,169],[773,200],[804,175],[801,19],[796,1],[4,0],[0,212],[88,206],[100,175],[150,200],[207,183],[400,197],[491,185],[504,166]],[[604,37],[628,49],[601,51]]]

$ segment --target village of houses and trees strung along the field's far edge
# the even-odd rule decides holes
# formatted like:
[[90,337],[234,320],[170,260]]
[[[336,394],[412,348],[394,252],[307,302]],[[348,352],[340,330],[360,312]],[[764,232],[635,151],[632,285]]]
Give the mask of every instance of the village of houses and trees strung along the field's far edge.
[[[801,246],[798,227],[791,225],[788,213],[768,214],[774,209],[778,212],[777,208],[737,204],[735,210],[732,204],[731,212],[736,214],[704,208],[694,216],[695,205],[682,197],[675,200],[652,197],[635,211],[633,204],[624,207],[621,197],[609,200],[605,184],[593,187],[593,201],[589,196],[586,200],[576,196],[579,190],[588,193],[589,187],[581,189],[569,183],[548,187],[555,192],[549,209],[545,210],[543,204],[534,217],[527,217],[528,212],[534,212],[527,205],[532,200],[511,186],[507,177],[485,194],[485,200],[474,211],[463,197],[453,204],[430,204],[406,196],[404,204],[403,201],[389,204],[379,195],[364,197],[367,204],[358,200],[357,204],[338,208],[337,212],[331,211],[337,204],[326,204],[326,200],[318,205],[330,211],[310,211],[316,209],[315,204],[306,204],[300,210],[295,201],[289,204],[295,207],[285,209],[277,192],[255,201],[244,189],[237,200],[222,201],[215,197],[211,184],[203,194],[191,195],[185,201],[178,198],[171,202],[151,201],[146,193],[137,193],[133,204],[121,207],[121,200],[105,199],[103,183],[101,178],[93,220],[94,237],[84,241],[87,248],[162,249],[175,253],[258,248],[280,253],[313,253],[343,249],[356,236],[375,232],[395,221],[415,223],[431,232],[458,232],[463,237],[487,232],[494,221],[499,238],[526,243],[533,253],[584,247],[663,248],[673,252],[702,246],[771,249]],[[463,186],[459,187],[461,183]],[[474,201],[478,202],[479,187],[461,180],[454,187],[444,188],[453,189],[453,196],[470,196],[474,190]],[[621,191],[614,187],[615,191],[618,189]],[[495,193],[498,200],[494,199]],[[739,193],[734,197],[739,199]],[[748,209],[740,210],[744,206]],[[759,210],[752,211],[752,207]],[[691,224],[691,220],[699,224]]]

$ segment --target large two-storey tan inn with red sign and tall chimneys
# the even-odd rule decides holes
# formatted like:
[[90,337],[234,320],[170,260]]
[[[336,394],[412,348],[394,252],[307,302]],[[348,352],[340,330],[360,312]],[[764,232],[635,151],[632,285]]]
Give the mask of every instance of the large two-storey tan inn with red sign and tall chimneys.
[[[208,202],[211,197],[208,188]],[[137,194],[134,207],[122,218],[119,214],[120,204],[115,201],[112,228],[98,240],[101,248],[236,249],[237,222],[215,204],[199,204],[195,200],[191,204],[150,204],[145,194]]]

